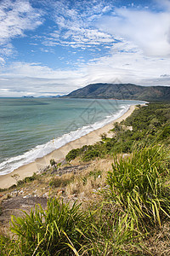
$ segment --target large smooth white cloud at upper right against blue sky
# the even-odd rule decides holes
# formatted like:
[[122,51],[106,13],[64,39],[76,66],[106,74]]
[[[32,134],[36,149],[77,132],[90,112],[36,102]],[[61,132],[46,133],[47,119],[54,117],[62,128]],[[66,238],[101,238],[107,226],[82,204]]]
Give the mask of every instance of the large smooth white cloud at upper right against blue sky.
[[98,21],[98,27],[116,38],[133,42],[150,56],[170,56],[170,13],[115,9]]

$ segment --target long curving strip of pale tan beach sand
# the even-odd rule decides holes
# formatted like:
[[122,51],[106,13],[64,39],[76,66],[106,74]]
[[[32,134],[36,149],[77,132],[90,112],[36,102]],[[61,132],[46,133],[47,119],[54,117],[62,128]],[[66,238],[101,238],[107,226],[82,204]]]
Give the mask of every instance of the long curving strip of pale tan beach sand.
[[131,113],[133,113],[135,106],[131,106],[126,113],[124,113],[120,118],[114,120],[108,125],[105,125],[102,128],[99,128],[95,131],[91,131],[87,135],[80,137],[79,139],[72,141],[71,143],[66,143],[65,146],[55,149],[50,154],[43,156],[26,166],[20,166],[20,168],[14,170],[14,172],[8,173],[6,175],[0,176],[0,188],[7,189],[16,183],[14,177],[11,177],[14,174],[17,174],[19,179],[22,180],[25,177],[31,177],[34,172],[39,172],[49,165],[49,161],[54,159],[56,161],[64,160],[65,155],[73,148],[81,148],[83,145],[92,145],[99,142],[101,139],[100,135],[103,133],[109,134],[109,131],[113,128],[115,122],[121,122],[123,119],[126,119]]

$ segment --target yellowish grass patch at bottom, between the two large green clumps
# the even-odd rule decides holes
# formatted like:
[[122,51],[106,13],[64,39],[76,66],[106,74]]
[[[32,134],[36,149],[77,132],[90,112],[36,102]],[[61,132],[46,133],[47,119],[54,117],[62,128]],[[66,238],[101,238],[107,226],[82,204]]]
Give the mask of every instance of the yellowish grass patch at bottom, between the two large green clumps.
[[139,234],[136,232],[133,236],[127,214],[114,214],[110,207],[103,201],[96,211],[91,212],[88,255],[132,255],[133,247],[139,252]]

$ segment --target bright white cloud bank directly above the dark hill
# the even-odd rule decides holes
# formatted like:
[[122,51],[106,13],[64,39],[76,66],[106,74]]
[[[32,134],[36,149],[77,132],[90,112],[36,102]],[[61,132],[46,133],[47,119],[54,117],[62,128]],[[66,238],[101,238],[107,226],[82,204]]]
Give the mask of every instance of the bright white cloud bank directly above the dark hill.
[[115,44],[111,55],[90,61],[88,82],[122,83],[140,85],[170,85],[169,59],[147,57],[134,44],[127,42]]

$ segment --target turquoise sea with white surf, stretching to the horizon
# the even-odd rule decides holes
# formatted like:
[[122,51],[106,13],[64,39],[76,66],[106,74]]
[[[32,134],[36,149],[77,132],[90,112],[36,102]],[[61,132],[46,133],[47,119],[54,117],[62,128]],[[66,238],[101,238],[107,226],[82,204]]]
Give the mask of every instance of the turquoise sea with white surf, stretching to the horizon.
[[94,131],[144,102],[0,98],[0,175]]

